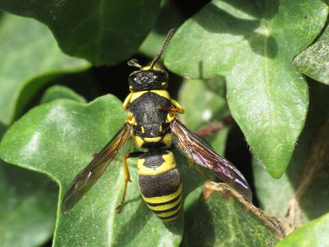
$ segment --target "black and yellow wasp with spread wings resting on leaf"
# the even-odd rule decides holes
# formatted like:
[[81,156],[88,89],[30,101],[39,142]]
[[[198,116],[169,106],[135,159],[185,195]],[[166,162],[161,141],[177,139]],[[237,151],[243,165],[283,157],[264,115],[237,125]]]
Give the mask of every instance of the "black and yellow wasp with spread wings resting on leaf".
[[145,148],[147,152],[125,154],[123,198],[117,210],[124,204],[127,183],[131,181],[127,158],[138,157],[138,185],[147,207],[164,222],[171,222],[178,217],[182,207],[182,181],[170,151],[172,146],[186,156],[188,163],[204,176],[206,174],[197,165],[210,169],[223,182],[239,191],[246,200],[252,200],[250,187],[239,170],[188,130],[175,116],[176,113],[184,113],[184,109],[171,99],[167,91],[167,71],[156,67],[156,62],[174,32],[174,29],[169,31],[164,45],[149,66],[142,67],[136,59],[128,61],[128,65],[137,70],[129,75],[130,94],[123,102],[127,120],[93,161],[77,174],[64,195],[63,213],[72,209],[97,182],[131,137],[137,148]]

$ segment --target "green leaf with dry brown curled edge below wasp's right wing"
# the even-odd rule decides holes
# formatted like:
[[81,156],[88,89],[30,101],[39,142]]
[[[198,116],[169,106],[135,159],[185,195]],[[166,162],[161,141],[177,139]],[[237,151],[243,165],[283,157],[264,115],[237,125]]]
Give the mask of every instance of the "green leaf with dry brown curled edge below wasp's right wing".
[[284,232],[278,221],[245,202],[228,185],[206,183],[185,246],[274,246]]

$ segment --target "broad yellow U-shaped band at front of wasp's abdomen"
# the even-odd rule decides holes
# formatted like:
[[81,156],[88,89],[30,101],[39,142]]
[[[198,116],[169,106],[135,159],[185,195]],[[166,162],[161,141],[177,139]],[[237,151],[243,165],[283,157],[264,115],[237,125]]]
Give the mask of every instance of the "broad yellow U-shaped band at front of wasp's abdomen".
[[164,162],[160,165],[160,167],[149,168],[144,166],[145,158],[138,158],[137,161],[137,169],[139,175],[158,175],[163,174],[164,172],[168,172],[171,169],[176,167],[175,158],[173,157],[173,153],[169,152],[168,154],[162,154],[162,158]]

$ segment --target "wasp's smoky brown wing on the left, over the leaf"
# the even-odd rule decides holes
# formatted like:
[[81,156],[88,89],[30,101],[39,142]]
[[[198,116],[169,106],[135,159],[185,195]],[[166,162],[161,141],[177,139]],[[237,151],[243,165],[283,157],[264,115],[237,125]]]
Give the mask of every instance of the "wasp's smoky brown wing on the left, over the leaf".
[[79,200],[93,187],[97,180],[103,175],[114,156],[121,150],[132,133],[130,124],[123,124],[117,134],[106,144],[106,146],[95,156],[77,176],[66,190],[62,202],[62,213],[67,213]]

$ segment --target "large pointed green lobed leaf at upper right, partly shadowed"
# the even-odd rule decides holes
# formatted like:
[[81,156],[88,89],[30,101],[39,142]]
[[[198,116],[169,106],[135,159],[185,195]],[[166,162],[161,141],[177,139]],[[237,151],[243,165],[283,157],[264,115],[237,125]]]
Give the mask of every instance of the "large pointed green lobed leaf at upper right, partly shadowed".
[[291,60],[327,14],[319,0],[213,0],[180,27],[164,57],[180,75],[225,76],[232,116],[274,178],[289,164],[308,107],[306,81]]

